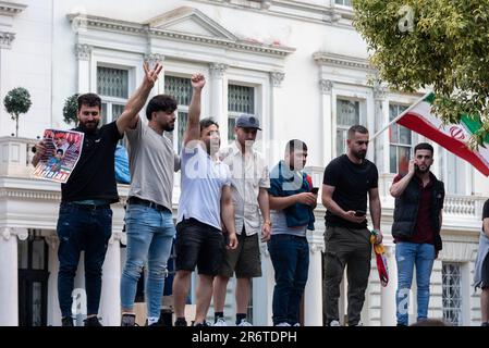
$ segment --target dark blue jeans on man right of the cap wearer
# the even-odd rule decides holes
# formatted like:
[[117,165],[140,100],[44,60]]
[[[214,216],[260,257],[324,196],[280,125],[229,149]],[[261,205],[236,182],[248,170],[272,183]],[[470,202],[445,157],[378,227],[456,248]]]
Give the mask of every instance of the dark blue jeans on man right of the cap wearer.
[[309,272],[309,246],[306,237],[272,235],[268,251],[276,272],[273,325],[298,323],[298,310]]

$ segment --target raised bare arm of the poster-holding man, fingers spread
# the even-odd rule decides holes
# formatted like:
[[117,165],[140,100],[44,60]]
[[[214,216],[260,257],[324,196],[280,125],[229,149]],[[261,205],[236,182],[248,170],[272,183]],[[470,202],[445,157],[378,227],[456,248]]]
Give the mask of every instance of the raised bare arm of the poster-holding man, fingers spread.
[[148,64],[144,63],[143,69],[145,71],[145,78],[140,86],[136,89],[134,95],[127,100],[124,107],[124,111],[115,121],[119,133],[122,135],[129,128],[134,128],[137,124],[137,114],[140,109],[143,109],[146,100],[148,99],[149,92],[155,86],[155,82],[158,79],[158,74],[161,72],[163,66],[157,63],[155,67],[150,71]]

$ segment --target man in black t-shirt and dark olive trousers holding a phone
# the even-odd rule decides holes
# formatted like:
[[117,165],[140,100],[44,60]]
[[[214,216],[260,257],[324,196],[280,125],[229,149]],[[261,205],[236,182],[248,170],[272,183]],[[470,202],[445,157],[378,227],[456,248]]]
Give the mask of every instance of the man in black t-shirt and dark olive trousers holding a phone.
[[332,160],[325,170],[322,204],[326,212],[323,312],[327,326],[340,326],[338,299],[347,265],[349,326],[362,325],[360,312],[370,273],[370,231],[367,228],[367,195],[376,244],[380,232],[378,172],[365,159],[368,130],[354,125],[349,129],[347,152]]

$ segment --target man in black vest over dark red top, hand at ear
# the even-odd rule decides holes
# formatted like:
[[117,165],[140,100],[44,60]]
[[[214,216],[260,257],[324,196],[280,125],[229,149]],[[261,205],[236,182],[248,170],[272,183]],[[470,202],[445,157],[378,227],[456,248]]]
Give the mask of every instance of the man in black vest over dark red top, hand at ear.
[[420,142],[414,148],[408,172],[394,177],[390,188],[395,198],[392,236],[398,263],[395,294],[398,326],[407,326],[407,306],[413,269],[416,268],[417,321],[427,319],[429,278],[433,261],[441,250],[441,210],[443,183],[430,172],[433,148]]

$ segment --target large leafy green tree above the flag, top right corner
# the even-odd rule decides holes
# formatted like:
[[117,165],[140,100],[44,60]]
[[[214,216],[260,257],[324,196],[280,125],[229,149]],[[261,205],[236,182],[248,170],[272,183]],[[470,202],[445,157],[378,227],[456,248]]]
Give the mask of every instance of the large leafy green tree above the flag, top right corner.
[[[430,87],[447,123],[479,115],[489,132],[489,0],[353,0],[354,26],[379,79],[392,89]],[[475,144],[475,142],[474,142]]]

